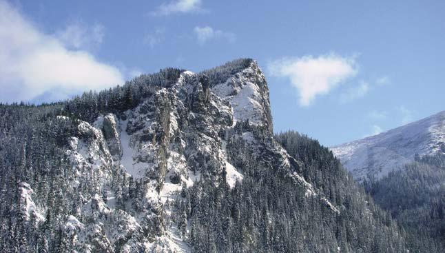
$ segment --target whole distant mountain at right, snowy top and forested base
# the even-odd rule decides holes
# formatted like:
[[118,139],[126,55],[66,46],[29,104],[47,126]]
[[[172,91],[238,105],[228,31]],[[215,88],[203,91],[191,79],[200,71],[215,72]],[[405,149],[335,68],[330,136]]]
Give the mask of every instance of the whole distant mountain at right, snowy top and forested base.
[[445,111],[331,148],[406,233],[411,252],[445,248]]

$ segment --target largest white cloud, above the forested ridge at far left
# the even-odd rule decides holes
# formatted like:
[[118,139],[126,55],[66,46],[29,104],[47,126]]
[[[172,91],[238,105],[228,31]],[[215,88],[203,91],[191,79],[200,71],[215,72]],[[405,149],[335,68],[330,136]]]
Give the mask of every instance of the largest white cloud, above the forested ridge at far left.
[[[70,32],[66,34],[69,37]],[[29,101],[53,90],[65,94],[58,97],[65,99],[66,94],[118,83],[123,83],[118,68],[83,50],[70,50],[63,39],[43,34],[0,1],[0,101]]]

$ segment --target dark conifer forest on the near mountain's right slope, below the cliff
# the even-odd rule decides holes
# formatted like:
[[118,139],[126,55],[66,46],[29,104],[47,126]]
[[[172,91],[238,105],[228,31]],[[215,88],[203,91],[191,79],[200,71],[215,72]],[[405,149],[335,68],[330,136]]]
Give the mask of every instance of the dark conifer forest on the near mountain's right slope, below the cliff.
[[[238,125],[242,123],[238,123]],[[238,126],[236,129],[242,128]],[[258,136],[265,143],[274,140]],[[227,150],[242,183],[196,183],[186,193],[194,252],[404,252],[404,239],[388,214],[375,207],[327,148],[287,132],[276,136],[289,154],[307,163],[307,181],[340,208],[336,214],[317,196],[308,196],[289,172],[230,139]],[[181,201],[181,203],[183,203]],[[179,226],[179,224],[178,224]]]

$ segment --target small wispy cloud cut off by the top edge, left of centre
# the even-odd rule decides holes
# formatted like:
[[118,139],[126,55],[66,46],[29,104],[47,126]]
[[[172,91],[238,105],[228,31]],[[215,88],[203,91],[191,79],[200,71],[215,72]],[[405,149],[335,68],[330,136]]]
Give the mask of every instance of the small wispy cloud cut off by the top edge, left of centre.
[[150,12],[150,14],[152,16],[167,16],[174,13],[205,12],[201,4],[201,0],[177,0],[158,6],[158,8],[154,12]]

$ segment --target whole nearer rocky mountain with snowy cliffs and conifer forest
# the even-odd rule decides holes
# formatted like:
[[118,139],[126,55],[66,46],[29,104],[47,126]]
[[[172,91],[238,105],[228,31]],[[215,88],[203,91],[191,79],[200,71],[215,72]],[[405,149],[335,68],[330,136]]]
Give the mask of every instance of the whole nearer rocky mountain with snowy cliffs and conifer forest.
[[0,252],[406,252],[327,148],[272,129],[251,59],[0,104]]

